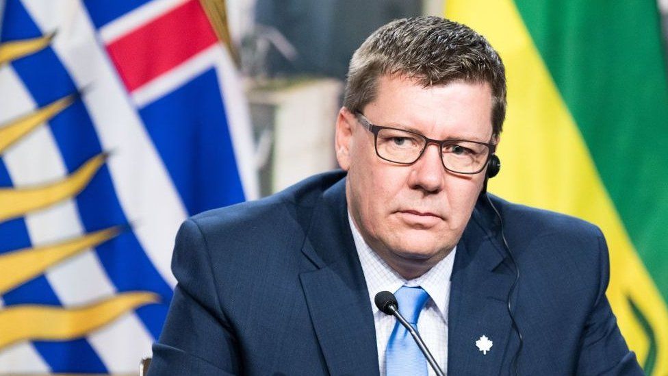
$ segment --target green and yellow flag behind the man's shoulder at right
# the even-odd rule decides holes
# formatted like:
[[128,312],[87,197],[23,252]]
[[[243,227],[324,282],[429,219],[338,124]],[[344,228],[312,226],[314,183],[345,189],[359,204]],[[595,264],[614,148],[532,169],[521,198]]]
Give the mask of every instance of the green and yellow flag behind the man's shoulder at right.
[[448,0],[508,77],[491,192],[600,226],[608,299],[647,375],[668,375],[668,80],[655,0]]

